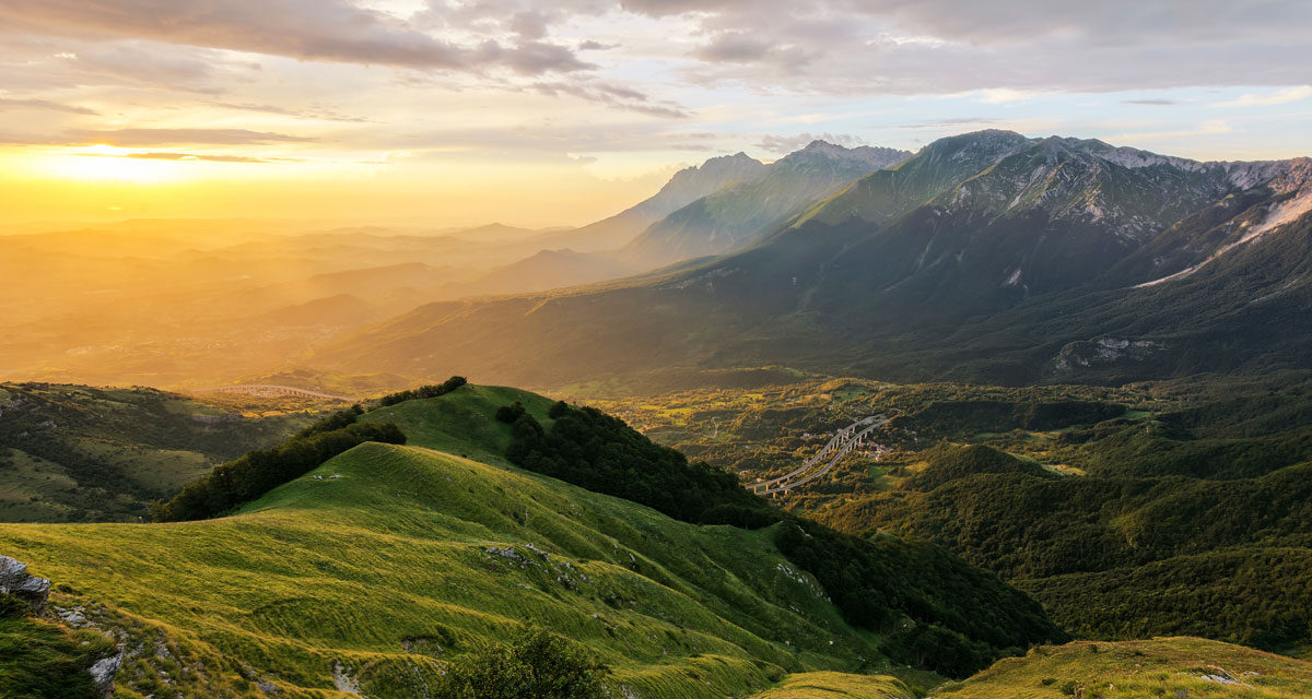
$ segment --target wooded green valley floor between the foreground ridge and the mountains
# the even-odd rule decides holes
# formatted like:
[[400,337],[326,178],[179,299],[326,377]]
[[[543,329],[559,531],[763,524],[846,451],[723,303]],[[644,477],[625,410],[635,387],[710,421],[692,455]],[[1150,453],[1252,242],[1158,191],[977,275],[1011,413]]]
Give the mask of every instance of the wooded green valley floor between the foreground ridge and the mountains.
[[850,534],[941,544],[1081,636],[1193,635],[1300,653],[1305,380],[836,379],[598,405],[748,488],[795,468],[853,417],[899,410],[878,446],[773,500]]

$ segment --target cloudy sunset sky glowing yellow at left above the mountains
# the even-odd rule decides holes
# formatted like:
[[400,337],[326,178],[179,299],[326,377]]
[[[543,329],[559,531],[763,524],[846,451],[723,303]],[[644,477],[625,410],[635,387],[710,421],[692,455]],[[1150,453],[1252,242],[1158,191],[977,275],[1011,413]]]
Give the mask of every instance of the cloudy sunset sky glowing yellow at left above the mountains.
[[1305,0],[0,0],[0,220],[576,226],[1012,129],[1312,155]]

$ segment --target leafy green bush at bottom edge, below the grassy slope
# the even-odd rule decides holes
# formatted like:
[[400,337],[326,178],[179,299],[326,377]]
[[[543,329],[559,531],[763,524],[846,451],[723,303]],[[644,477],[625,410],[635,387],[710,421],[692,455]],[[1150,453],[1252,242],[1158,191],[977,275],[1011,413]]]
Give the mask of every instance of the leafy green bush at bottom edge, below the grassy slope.
[[445,699],[605,699],[610,668],[586,648],[543,629],[525,628],[446,668]]

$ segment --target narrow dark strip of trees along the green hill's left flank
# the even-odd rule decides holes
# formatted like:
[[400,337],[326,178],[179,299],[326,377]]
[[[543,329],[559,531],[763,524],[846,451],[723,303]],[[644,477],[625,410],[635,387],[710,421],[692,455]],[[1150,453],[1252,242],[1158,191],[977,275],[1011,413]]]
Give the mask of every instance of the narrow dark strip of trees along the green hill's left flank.
[[274,449],[252,451],[215,467],[209,476],[182,488],[172,500],[151,505],[151,519],[184,522],[220,517],[365,442],[404,445],[405,434],[391,422],[310,431]]

